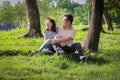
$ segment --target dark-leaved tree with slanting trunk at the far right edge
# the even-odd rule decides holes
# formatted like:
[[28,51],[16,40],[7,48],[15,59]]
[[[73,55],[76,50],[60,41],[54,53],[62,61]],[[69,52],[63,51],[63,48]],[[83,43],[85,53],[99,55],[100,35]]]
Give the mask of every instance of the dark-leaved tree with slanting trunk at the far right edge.
[[107,29],[113,30],[113,23],[120,23],[120,0],[104,0],[104,18]]

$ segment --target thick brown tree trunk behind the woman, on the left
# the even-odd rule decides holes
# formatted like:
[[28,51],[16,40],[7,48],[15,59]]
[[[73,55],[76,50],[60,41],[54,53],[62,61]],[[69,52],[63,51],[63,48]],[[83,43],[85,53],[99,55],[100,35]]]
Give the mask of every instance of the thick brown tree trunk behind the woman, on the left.
[[40,16],[36,0],[26,0],[28,32],[24,37],[41,36]]

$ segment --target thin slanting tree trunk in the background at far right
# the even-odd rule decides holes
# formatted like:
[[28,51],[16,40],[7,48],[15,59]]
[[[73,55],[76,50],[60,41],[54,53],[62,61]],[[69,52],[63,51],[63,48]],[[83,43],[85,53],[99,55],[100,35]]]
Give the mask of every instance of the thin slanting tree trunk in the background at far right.
[[105,23],[107,25],[107,30],[113,31],[112,20],[111,20],[110,16],[108,15],[108,12],[105,8],[103,8],[103,17],[104,17]]

